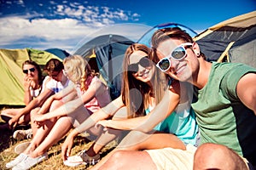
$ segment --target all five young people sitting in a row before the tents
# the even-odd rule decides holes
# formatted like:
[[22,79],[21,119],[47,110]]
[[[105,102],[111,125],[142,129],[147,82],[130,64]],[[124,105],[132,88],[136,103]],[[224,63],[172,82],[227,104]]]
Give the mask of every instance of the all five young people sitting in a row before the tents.
[[[38,76],[32,81],[37,66],[23,65],[26,90],[40,92],[37,97],[28,93],[26,107],[15,114],[2,112],[11,117],[10,127],[22,122],[32,126],[32,140],[6,163],[8,168],[34,167],[63,137],[61,156],[70,167],[256,166],[256,69],[208,62],[199,45],[179,28],[155,31],[150,48],[134,43],[126,49],[121,93],[113,101],[82,56],[71,55],[63,62],[50,59],[45,70],[49,76],[44,82]],[[88,150],[71,156],[75,137],[84,132],[97,138]],[[117,138],[119,144],[101,157],[102,148]]]

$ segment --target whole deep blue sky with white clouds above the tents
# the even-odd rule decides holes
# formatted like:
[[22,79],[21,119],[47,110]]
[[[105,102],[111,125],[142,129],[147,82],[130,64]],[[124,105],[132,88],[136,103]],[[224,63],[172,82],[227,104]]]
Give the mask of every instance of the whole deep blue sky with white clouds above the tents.
[[199,33],[255,9],[255,0],[0,0],[0,48],[72,53],[106,29],[136,40],[153,26],[173,22]]

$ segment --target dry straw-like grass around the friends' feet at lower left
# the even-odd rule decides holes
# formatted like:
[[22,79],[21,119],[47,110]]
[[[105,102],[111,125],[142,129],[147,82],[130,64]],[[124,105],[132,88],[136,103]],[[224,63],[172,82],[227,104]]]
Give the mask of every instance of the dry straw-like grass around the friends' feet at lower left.
[[[3,120],[0,118],[0,124],[3,123]],[[39,163],[37,166],[32,167],[32,170],[67,170],[67,169],[90,169],[90,166],[79,166],[79,167],[67,167],[63,164],[61,159],[61,144],[64,142],[64,139],[61,139],[60,142],[52,146],[48,151],[49,159]],[[15,154],[15,146],[23,142],[29,141],[29,139],[17,141],[12,138],[12,132],[8,130],[0,130],[0,169],[6,169],[6,162],[12,161],[17,154]],[[90,147],[93,141],[86,139],[83,136],[78,136],[73,144],[72,155],[75,155],[80,150],[86,150]],[[106,156],[110,150],[113,149],[116,142],[113,141],[107,146],[105,146],[100,155],[101,157]]]

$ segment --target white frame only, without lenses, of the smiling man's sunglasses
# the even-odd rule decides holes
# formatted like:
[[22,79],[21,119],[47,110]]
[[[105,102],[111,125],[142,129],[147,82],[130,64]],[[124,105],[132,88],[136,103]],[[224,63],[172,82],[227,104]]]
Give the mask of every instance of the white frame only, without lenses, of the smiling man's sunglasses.
[[[184,58],[187,56],[187,50],[186,50],[185,46],[192,46],[192,45],[193,45],[192,42],[184,42],[184,43],[180,44],[179,46],[177,46],[177,48],[183,48],[183,50],[184,50],[184,52],[185,52],[185,54],[183,55],[183,57],[181,57],[180,59],[175,59],[175,58],[172,56],[172,53],[173,53],[177,48],[174,48],[174,49],[172,50],[171,54],[167,55],[165,58],[160,59],[160,61],[157,62],[157,64],[156,64],[157,68],[159,68],[160,71],[163,71],[163,72],[168,71],[168,70],[170,69],[170,67],[171,67],[171,58],[174,59],[174,60],[177,60],[177,61],[184,59]],[[169,66],[168,66],[168,68],[167,68],[166,70],[163,70],[163,69],[160,67],[160,62],[163,61],[164,59],[167,59],[168,62],[169,62]]]

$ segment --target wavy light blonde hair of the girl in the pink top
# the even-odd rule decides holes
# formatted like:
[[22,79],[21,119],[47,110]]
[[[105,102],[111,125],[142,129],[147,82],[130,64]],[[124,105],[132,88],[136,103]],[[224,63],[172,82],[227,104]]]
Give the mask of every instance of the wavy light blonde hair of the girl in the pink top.
[[67,71],[68,78],[80,85],[82,91],[87,90],[85,84],[87,77],[93,75],[93,71],[90,69],[90,65],[87,60],[81,55],[70,55],[63,60],[65,71]]

